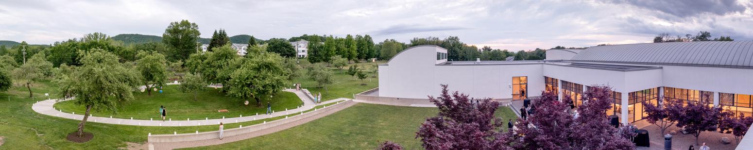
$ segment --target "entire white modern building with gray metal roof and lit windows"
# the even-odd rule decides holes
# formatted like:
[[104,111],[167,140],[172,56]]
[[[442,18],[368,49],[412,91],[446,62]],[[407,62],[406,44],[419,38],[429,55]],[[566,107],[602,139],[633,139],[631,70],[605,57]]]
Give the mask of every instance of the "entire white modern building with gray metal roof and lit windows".
[[609,115],[623,124],[641,121],[646,116],[641,102],[656,103],[659,96],[691,101],[709,96],[709,104],[751,116],[753,41],[553,49],[545,61],[447,61],[446,49],[420,45],[380,64],[379,78],[378,96],[398,99],[438,96],[440,84],[476,98],[518,100],[554,90],[578,99],[588,86],[606,84],[615,92]]

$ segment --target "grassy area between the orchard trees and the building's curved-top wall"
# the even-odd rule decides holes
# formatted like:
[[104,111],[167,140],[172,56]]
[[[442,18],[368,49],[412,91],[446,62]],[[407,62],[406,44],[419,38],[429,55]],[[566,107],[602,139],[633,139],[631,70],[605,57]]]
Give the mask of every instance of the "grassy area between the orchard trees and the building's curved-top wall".
[[[306,75],[306,69],[302,69],[301,76],[294,79],[294,83],[300,83],[303,88],[308,89],[312,93],[322,93],[322,99],[323,101],[331,100],[331,99],[337,99],[341,97],[345,98],[353,98],[353,94],[361,93],[366,90],[371,90],[373,88],[379,87],[379,78],[373,78],[377,77],[376,73],[372,73],[374,68],[373,65],[377,65],[380,63],[386,63],[386,62],[370,62],[370,63],[350,63],[348,66],[343,67],[343,71],[340,72],[340,69],[334,68],[334,66],[329,67],[333,75],[333,81],[332,84],[327,85],[327,88],[317,88],[316,87],[316,81],[313,81],[309,78],[308,75]],[[306,60],[300,60],[300,64],[303,67],[308,66],[310,64]],[[359,69],[363,69],[364,72],[367,73],[368,78],[364,79],[364,82],[367,85],[361,85],[361,79],[354,78],[351,75],[347,74],[348,67],[349,66],[358,66]]]

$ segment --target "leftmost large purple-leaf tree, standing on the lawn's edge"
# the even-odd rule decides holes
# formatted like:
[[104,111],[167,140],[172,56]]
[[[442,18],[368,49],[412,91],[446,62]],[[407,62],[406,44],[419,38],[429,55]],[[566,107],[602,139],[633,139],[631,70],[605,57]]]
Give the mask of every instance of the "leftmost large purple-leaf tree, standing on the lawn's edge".
[[[474,99],[457,91],[450,94],[442,86],[439,97],[428,99],[439,109],[437,117],[427,118],[416,132],[425,149],[507,149],[501,138],[501,118],[494,118],[498,108],[491,99]],[[502,144],[501,144],[502,143]]]

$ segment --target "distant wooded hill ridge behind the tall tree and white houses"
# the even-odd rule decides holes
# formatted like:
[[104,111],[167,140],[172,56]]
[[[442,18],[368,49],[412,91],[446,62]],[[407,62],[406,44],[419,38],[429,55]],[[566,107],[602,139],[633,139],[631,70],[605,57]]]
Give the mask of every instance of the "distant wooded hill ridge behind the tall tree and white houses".
[[[251,38],[251,35],[235,35],[230,37],[231,43],[239,43],[239,44],[245,44],[248,43],[248,39]],[[157,35],[140,35],[140,34],[120,34],[115,35],[112,37],[113,40],[117,41],[123,41],[124,44],[144,44],[152,41],[161,42],[162,37]],[[257,41],[260,41],[260,43],[263,43],[264,40],[261,40],[259,38],[255,38]],[[199,38],[199,42],[201,44],[209,44],[209,41],[211,41],[212,38]]]

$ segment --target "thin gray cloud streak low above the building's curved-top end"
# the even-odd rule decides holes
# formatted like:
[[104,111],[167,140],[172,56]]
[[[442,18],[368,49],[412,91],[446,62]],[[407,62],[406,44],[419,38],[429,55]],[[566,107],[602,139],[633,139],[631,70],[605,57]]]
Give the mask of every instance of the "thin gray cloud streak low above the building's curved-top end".
[[421,26],[421,25],[407,25],[399,24],[395,26],[389,26],[386,29],[380,29],[372,32],[374,35],[395,35],[415,32],[434,32],[434,31],[451,31],[459,29],[468,29],[458,26]]

